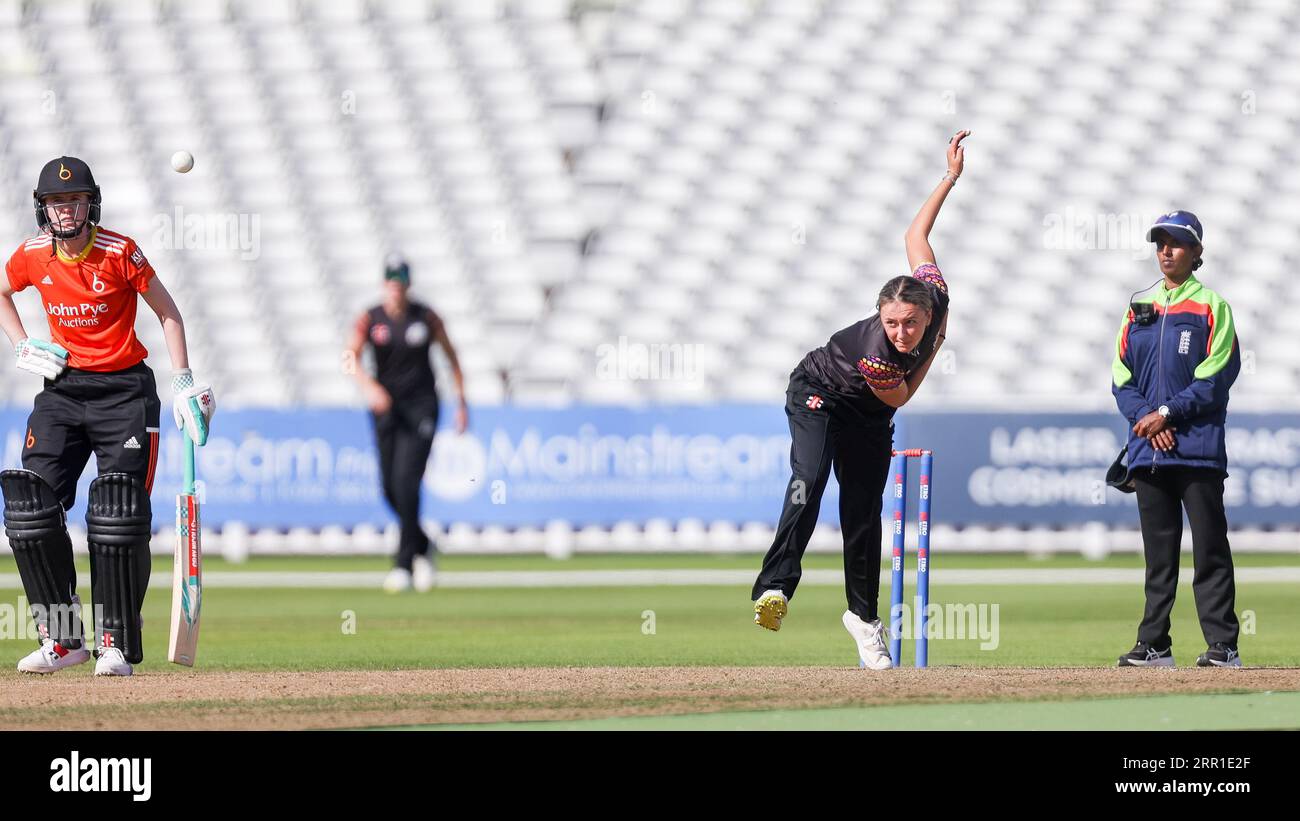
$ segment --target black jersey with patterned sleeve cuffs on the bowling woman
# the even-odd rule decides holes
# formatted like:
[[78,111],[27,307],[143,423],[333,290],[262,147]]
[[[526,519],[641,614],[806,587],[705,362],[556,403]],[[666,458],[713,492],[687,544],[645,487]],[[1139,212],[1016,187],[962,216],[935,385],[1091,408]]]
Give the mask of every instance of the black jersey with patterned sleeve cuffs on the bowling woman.
[[880,314],[836,331],[820,348],[810,351],[800,368],[827,392],[861,400],[871,410],[893,416],[894,408],[880,401],[871,388],[888,391],[902,385],[909,373],[935,351],[939,329],[948,316],[948,283],[933,262],[923,262],[911,273],[926,283],[935,305],[930,326],[911,353],[901,353],[889,340]]

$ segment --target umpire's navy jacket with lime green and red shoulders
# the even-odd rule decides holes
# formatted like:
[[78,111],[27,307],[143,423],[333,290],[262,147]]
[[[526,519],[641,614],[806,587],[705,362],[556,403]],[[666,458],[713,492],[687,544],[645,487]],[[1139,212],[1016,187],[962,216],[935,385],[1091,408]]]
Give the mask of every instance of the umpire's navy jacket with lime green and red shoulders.
[[[1196,277],[1136,300],[1153,303],[1156,321],[1124,314],[1112,364],[1119,412],[1128,420],[1128,472],[1161,465],[1213,468],[1227,475],[1223,422],[1227,394],[1242,370],[1232,309]],[[1161,452],[1132,433],[1138,420],[1169,405],[1173,451]]]

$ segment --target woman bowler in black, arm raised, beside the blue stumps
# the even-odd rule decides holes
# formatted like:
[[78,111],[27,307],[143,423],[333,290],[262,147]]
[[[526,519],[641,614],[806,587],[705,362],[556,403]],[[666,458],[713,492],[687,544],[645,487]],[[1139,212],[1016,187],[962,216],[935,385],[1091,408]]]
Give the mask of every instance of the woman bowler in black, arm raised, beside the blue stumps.
[[880,290],[876,313],[837,331],[790,374],[785,414],[790,469],[776,538],[754,582],[754,622],[780,630],[802,574],[827,478],[840,483],[842,622],[871,669],[893,666],[880,622],[880,511],[893,455],[893,414],[920,388],[948,327],[948,283],[935,264],[930,231],[965,165],[958,131],[948,143],[948,171],[906,234],[910,277]]

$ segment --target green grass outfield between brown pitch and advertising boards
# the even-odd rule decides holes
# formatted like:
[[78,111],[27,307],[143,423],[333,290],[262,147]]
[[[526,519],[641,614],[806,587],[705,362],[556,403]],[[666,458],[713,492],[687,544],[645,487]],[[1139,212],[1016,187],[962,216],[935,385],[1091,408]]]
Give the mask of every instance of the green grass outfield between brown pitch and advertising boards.
[[[942,561],[941,559],[939,561]],[[84,565],[84,559],[82,562]],[[1190,566],[1190,557],[1184,565]],[[1294,555],[1243,555],[1242,566],[1300,564]],[[450,556],[446,570],[519,569],[757,569],[757,556]],[[837,556],[810,556],[809,568],[838,568]],[[211,560],[209,570],[382,570],[382,559],[256,559],[243,565]],[[936,566],[939,566],[936,564]],[[1035,560],[1015,555],[948,559],[965,568],[1140,568],[1136,556],[1091,562],[1078,556]],[[13,573],[12,557],[0,573]],[[160,561],[156,574],[170,577]],[[936,575],[936,579],[939,577]],[[88,599],[90,574],[79,575]],[[888,585],[883,595],[888,596]],[[18,590],[0,590],[0,634],[13,637]],[[888,600],[888,599],[885,599]],[[984,616],[996,637],[949,635],[931,642],[932,665],[1110,666],[1132,646],[1143,609],[1140,585],[931,586],[935,604],[965,605]],[[854,648],[840,626],[844,594],[809,586],[792,603],[777,634],[751,624],[746,586],[443,588],[391,596],[373,588],[231,588],[209,586],[203,599],[204,670],[335,670],[452,666],[845,665]],[[146,669],[178,672],[165,656],[170,596],[146,599]],[[1248,665],[1300,666],[1300,596],[1294,583],[1238,585]],[[963,620],[965,626],[979,622]],[[956,622],[953,626],[958,626]],[[1174,611],[1174,651],[1190,664],[1204,650],[1190,586]],[[984,647],[982,647],[982,644]],[[994,646],[996,644],[996,646]],[[0,640],[17,659],[30,639]],[[905,643],[905,661],[911,643]]]

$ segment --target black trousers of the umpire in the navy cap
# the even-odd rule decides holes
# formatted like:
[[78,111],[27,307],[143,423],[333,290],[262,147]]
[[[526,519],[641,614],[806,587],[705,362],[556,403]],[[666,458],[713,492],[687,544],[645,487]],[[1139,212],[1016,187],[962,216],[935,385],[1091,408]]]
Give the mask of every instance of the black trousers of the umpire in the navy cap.
[[1236,583],[1223,512],[1223,474],[1200,468],[1135,470],[1138,512],[1147,556],[1147,612],[1138,640],[1167,647],[1169,614],[1178,592],[1183,511],[1192,526],[1192,592],[1206,644],[1236,647]]

